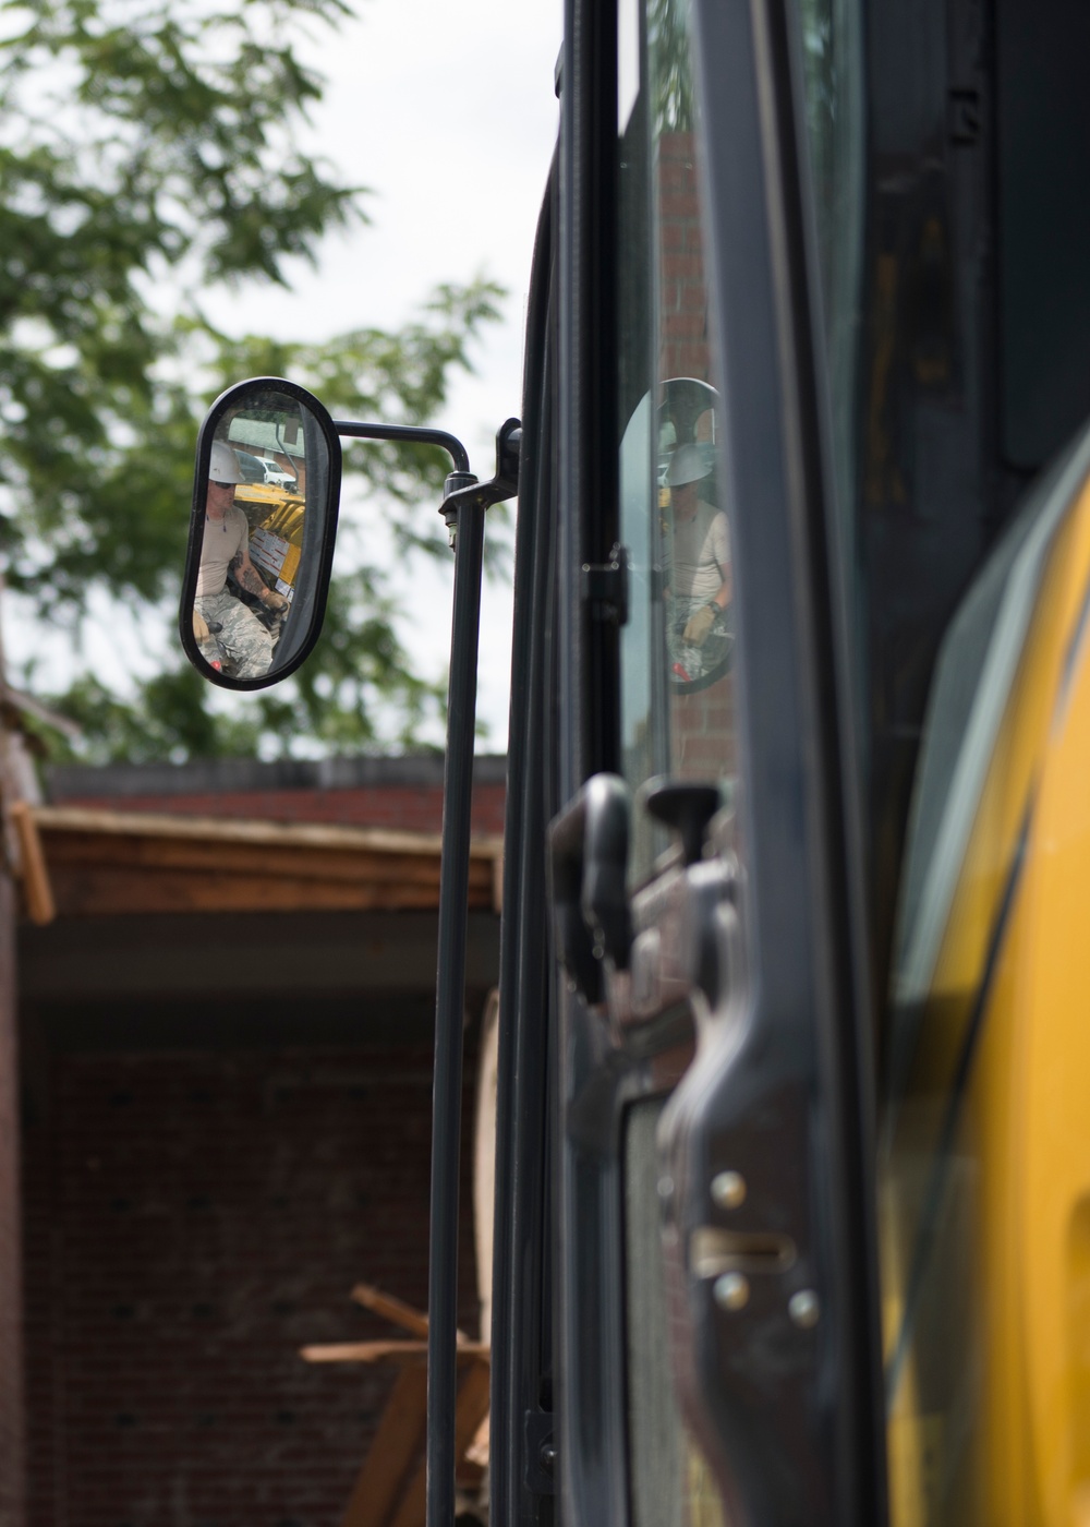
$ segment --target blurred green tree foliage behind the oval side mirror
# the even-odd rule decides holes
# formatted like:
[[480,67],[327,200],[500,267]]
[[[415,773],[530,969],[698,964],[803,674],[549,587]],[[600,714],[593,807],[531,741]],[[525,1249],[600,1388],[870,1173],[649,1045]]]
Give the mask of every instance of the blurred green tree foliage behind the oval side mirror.
[[[197,423],[223,386],[292,376],[334,414],[420,423],[501,293],[443,287],[400,331],[325,344],[205,316],[217,284],[285,286],[322,235],[365,221],[362,188],[299,147],[321,79],[293,41],[339,24],[342,0],[24,0],[0,14],[5,579],[73,637],[96,594],[122,602],[166,651]],[[438,516],[414,510],[441,484],[441,454],[356,444],[345,467],[401,548],[440,545]],[[357,565],[304,675],[278,690],[224,710],[171,660],[134,696],[82,675],[55,702],[82,722],[89,756],[183,757],[301,736],[408,745],[441,699],[409,672],[382,570]]]

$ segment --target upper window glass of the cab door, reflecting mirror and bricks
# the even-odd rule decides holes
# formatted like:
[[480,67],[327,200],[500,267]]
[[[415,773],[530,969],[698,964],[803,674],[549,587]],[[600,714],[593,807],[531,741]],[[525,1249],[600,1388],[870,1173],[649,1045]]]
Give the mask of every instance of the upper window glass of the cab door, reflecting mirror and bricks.
[[[711,380],[704,234],[696,180],[693,75],[684,0],[647,0],[638,92],[618,137],[620,522],[629,554],[621,638],[623,767],[635,789],[655,774],[733,774],[730,507],[719,483],[719,399]],[[632,92],[632,64],[618,81]],[[638,822],[634,876],[659,841]]]

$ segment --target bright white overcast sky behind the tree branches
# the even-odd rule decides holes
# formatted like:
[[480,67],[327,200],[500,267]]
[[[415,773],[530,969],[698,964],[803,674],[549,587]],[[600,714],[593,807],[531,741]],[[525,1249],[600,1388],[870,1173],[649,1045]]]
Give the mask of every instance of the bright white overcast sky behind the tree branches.
[[[485,331],[476,374],[456,380],[437,418],[485,478],[495,431],[521,411],[530,260],[557,128],[562,0],[354,5],[357,17],[336,34],[311,23],[310,40],[298,44],[327,79],[305,147],[343,182],[369,188],[371,224],[327,240],[318,270],[299,263],[292,293],[209,295],[206,312],[229,333],[324,339],[365,325],[395,328],[440,281],[495,278],[508,290],[504,322]],[[380,525],[376,536],[383,539]],[[447,663],[452,567],[414,567],[411,580],[400,579],[400,637],[427,676]],[[507,739],[510,621],[510,588],[485,582],[478,712],[489,736],[478,745],[487,751],[502,751]],[[53,647],[11,618],[6,626],[9,657],[41,664],[35,687],[69,681],[72,658],[60,641]],[[93,608],[81,655],[124,689],[153,644],[124,612],[102,606]]]

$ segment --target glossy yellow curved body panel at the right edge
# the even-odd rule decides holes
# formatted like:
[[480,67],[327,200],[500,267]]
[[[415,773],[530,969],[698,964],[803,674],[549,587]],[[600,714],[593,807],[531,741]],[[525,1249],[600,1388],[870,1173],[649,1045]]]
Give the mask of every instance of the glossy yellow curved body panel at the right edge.
[[1090,1527],[1088,591],[1084,486],[884,1142],[895,1527]]

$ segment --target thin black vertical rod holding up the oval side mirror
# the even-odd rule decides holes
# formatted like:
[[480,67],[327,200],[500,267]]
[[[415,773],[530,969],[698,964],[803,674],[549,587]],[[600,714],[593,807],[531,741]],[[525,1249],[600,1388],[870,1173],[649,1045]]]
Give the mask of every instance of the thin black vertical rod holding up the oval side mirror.
[[476,730],[482,502],[458,507],[443,776],[443,863],[432,1083],[432,1211],[427,1263],[427,1527],[453,1527],[458,1339],[458,1179],[469,843]]

